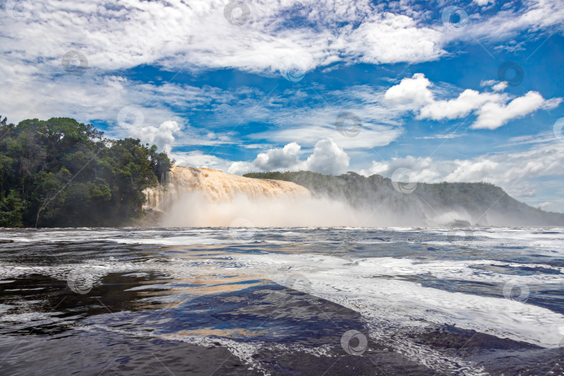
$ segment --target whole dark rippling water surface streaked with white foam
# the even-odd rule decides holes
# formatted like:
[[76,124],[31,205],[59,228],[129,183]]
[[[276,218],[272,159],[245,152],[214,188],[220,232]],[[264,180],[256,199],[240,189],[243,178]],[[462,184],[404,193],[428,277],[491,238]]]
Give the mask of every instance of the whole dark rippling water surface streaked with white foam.
[[2,230],[3,373],[564,372],[562,230],[254,232]]

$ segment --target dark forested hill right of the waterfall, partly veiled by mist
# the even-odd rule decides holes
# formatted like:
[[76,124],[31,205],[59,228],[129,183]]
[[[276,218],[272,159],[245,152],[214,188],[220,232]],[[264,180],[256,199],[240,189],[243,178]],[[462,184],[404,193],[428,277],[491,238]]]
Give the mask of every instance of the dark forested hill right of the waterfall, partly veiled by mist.
[[[521,203],[489,183],[392,182],[381,175],[340,176],[311,171],[247,173],[246,178],[286,180],[353,207],[390,214],[390,226],[564,226],[564,214]],[[395,187],[394,187],[395,185]]]

